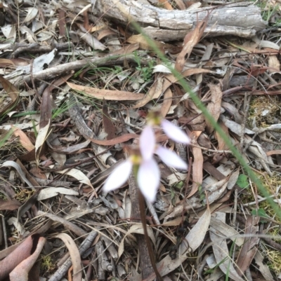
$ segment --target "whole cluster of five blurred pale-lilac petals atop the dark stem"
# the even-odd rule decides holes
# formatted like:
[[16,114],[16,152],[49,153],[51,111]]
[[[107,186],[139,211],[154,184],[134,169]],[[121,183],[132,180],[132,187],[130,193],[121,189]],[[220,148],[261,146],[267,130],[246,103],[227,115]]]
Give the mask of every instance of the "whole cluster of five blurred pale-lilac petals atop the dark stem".
[[[176,142],[189,143],[188,136],[169,121],[162,121],[161,125],[166,135],[171,139],[176,140]],[[141,156],[131,155],[124,163],[117,166],[106,179],[103,190],[107,192],[118,189],[129,179],[131,170],[135,166],[138,170],[136,181],[141,193],[143,193],[146,200],[154,202],[160,183],[160,170],[153,158],[153,154],[156,153],[170,167],[187,170],[188,165],[176,153],[162,146],[157,146],[155,133],[151,125],[143,129],[139,146]]]

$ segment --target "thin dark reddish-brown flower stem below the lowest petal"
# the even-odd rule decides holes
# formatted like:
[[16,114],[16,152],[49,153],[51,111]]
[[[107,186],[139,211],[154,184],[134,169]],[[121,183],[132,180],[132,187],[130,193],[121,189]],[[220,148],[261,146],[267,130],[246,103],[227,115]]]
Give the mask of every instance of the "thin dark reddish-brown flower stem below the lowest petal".
[[153,254],[152,245],[151,245],[151,242],[150,242],[150,238],[148,236],[148,228],[146,226],[146,219],[145,219],[145,200],[143,198],[143,194],[139,190],[138,190],[138,202],[140,204],[141,223],[143,224],[143,233],[145,235],[146,245],[148,246],[148,254],[150,256],[150,262],[151,262],[152,268],[155,272],[157,281],[163,281],[162,276],[160,275],[159,271],[157,270],[157,266],[156,266],[156,263],[155,263],[155,256]]

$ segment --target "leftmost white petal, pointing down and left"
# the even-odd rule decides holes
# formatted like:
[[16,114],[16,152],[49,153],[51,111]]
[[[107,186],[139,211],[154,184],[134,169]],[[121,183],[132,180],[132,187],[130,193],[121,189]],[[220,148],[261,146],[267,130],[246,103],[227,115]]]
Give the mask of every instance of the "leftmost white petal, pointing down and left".
[[113,191],[122,186],[129,178],[132,167],[133,163],[129,159],[118,165],[110,176],[107,177],[103,191]]

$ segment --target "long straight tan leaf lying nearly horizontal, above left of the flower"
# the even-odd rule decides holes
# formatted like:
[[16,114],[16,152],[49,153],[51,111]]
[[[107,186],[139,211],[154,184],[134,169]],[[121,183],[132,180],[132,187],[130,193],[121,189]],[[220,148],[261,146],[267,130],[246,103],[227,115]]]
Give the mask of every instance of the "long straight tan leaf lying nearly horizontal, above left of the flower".
[[145,97],[144,94],[125,92],[122,90],[96,89],[82,85],[76,85],[70,82],[67,82],[67,85],[69,85],[72,90],[77,90],[77,92],[82,92],[85,95],[89,95],[90,97],[94,97],[99,100],[141,100]]

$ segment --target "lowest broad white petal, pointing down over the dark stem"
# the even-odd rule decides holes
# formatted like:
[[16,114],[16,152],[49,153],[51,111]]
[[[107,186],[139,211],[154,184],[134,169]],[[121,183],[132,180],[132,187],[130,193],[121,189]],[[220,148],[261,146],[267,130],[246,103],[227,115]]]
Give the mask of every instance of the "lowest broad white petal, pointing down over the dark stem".
[[144,161],[138,168],[137,180],[143,196],[151,203],[155,201],[160,182],[160,171],[153,158]]

